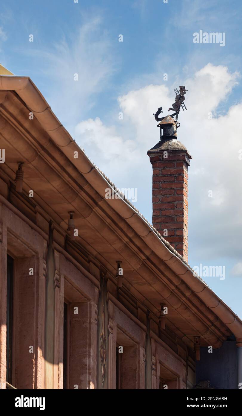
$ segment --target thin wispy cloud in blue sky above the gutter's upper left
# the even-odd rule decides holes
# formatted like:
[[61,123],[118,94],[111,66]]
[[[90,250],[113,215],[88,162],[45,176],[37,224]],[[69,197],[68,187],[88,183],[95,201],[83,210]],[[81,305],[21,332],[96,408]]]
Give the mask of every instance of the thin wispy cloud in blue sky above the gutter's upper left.
[[96,95],[105,89],[114,72],[111,51],[99,16],[83,18],[78,30],[67,36],[63,33],[59,43],[25,51],[41,61],[40,70],[51,81],[48,100],[68,130],[90,111]]

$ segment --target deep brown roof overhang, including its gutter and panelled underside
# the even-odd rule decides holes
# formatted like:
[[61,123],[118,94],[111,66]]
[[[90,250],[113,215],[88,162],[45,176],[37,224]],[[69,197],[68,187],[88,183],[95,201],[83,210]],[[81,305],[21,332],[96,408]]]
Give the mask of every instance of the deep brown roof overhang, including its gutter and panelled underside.
[[129,201],[105,198],[114,184],[28,77],[0,76],[0,147],[5,149],[1,168],[10,183],[17,162],[23,161],[26,195],[34,190],[34,200],[63,234],[68,211],[75,211],[78,244],[110,275],[115,275],[116,260],[122,260],[124,286],[153,313],[166,304],[169,328],[189,347],[200,336],[204,345],[218,348],[232,333],[242,346],[242,321]]

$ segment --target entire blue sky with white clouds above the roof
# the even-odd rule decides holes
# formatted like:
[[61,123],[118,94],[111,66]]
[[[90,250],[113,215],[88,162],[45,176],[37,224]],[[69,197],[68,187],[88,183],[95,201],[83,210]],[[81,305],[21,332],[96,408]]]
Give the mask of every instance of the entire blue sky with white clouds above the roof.
[[[188,262],[225,270],[200,275],[242,319],[242,2],[76,1],[1,4],[0,63],[32,79],[118,188],[137,189],[134,205],[150,223],[152,113],[168,114],[174,88],[186,86],[178,140],[193,157]],[[194,43],[200,31],[221,42]]]

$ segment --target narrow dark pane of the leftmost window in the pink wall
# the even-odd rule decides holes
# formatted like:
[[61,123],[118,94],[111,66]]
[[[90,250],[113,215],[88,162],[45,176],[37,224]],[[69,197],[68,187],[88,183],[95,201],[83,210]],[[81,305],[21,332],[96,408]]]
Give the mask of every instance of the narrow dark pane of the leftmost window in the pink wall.
[[7,383],[12,384],[13,259],[7,255]]

